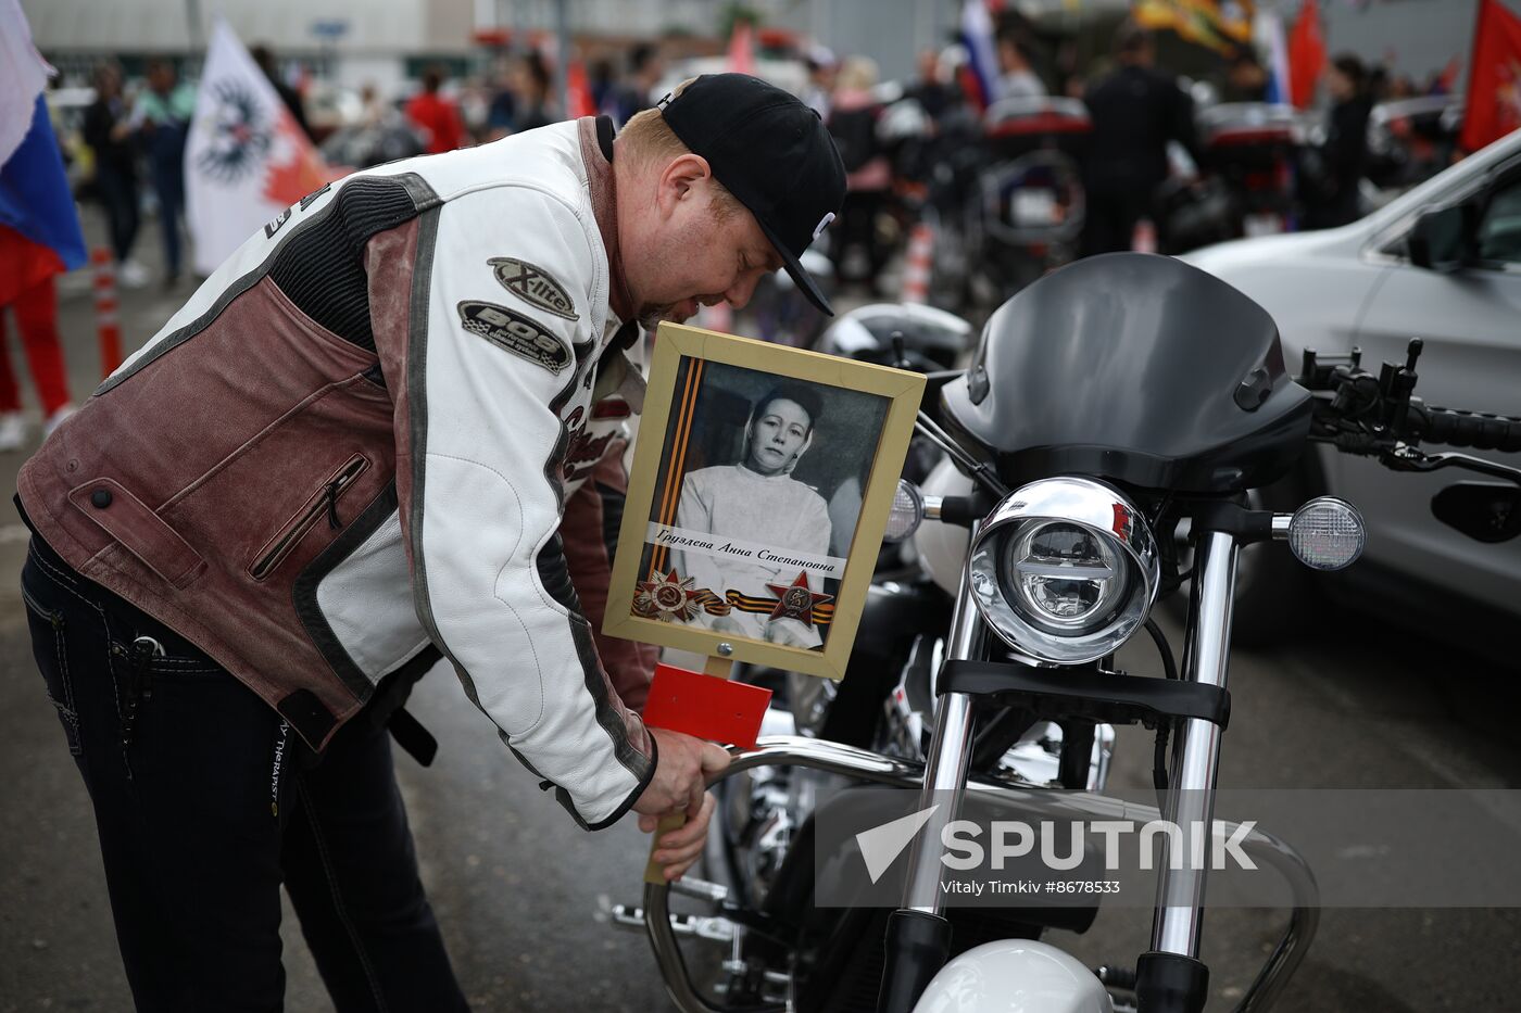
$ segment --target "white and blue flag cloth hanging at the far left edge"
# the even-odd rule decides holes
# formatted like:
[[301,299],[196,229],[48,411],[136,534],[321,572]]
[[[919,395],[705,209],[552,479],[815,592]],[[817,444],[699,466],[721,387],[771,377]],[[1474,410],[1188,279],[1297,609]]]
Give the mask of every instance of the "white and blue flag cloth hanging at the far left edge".
[[43,99],[52,73],[18,0],[0,0],[0,225],[73,269],[87,259],[85,237]]

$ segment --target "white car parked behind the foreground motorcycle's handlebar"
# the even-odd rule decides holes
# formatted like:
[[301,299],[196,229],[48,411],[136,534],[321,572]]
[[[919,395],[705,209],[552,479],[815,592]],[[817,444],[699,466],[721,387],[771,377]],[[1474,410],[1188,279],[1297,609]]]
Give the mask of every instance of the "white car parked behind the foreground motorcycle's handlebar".
[[[1404,362],[1408,341],[1422,338],[1416,395],[1521,415],[1521,131],[1352,225],[1221,243],[1183,260],[1273,315],[1290,373],[1297,374],[1305,348],[1355,345],[1363,368],[1377,374],[1384,360]],[[1521,455],[1477,453],[1521,467]],[[1381,604],[1393,593],[1430,616],[1433,631],[1495,646],[1521,616],[1521,540],[1484,545],[1431,514],[1431,497],[1448,485],[1486,481],[1494,479],[1457,468],[1395,473],[1319,447],[1269,496],[1331,493],[1363,511],[1367,551],[1328,581],[1332,590],[1355,589],[1364,602],[1380,592]],[[1296,590],[1282,586],[1293,580],[1287,570],[1267,555],[1255,563],[1243,575],[1246,593],[1272,586],[1273,598],[1287,601],[1281,595]]]

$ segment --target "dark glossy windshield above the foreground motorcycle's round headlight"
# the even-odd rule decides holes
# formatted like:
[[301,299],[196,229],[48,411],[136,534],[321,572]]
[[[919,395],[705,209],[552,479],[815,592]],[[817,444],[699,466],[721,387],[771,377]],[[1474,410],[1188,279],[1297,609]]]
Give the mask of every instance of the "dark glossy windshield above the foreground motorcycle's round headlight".
[[943,399],[1005,482],[1080,473],[1191,493],[1279,478],[1311,409],[1267,310],[1182,260],[1130,252],[1004,303]]

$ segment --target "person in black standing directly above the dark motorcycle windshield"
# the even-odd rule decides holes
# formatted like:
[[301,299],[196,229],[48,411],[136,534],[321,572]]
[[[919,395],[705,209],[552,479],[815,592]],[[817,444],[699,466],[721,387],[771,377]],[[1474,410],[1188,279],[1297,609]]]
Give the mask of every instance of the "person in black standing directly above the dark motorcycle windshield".
[[1118,67],[1088,90],[1094,122],[1084,172],[1088,216],[1083,256],[1130,249],[1136,224],[1151,214],[1167,179],[1167,144],[1179,141],[1197,161],[1194,102],[1171,76],[1153,68],[1151,35],[1126,23],[1115,35]]

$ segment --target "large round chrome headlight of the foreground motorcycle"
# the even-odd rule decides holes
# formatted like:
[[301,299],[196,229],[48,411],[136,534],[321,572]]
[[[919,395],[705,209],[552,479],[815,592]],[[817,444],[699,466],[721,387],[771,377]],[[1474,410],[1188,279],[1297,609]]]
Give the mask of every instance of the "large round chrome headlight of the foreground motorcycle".
[[1011,648],[1081,665],[1145,622],[1161,584],[1156,540],[1124,496],[1086,478],[1031,482],[976,532],[972,601]]

